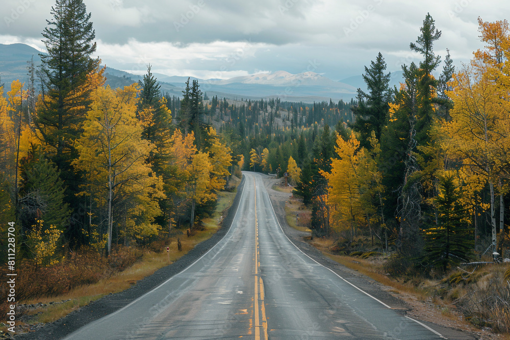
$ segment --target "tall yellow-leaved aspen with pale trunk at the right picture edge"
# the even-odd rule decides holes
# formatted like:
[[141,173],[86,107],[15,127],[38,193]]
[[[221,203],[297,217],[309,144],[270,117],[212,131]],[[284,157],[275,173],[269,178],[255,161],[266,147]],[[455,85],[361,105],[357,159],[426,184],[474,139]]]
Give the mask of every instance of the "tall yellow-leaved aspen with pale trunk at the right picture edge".
[[[443,126],[448,136],[446,147],[452,158],[462,162],[464,172],[473,173],[489,186],[490,222],[493,251],[501,248],[497,241],[496,191],[499,191],[499,229],[504,231],[504,195],[508,192],[508,136],[510,125],[510,31],[506,20],[484,22],[478,19],[480,38],[486,43],[474,53],[470,65],[454,75],[447,94],[454,102],[452,120]],[[504,239],[504,238],[502,238]]]

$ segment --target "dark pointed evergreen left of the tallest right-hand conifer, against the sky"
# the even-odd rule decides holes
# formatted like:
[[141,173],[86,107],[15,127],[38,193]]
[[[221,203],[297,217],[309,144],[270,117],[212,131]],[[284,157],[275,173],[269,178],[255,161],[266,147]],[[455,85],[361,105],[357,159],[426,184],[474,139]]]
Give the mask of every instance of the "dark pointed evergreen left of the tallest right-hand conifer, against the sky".
[[368,94],[358,89],[358,106],[352,109],[356,116],[352,128],[361,134],[361,146],[370,148],[368,141],[371,132],[380,140],[382,127],[388,116],[388,102],[391,100],[392,91],[389,88],[391,73],[385,74],[386,62],[381,53],[370,63],[370,68],[365,66],[363,80],[367,84]]

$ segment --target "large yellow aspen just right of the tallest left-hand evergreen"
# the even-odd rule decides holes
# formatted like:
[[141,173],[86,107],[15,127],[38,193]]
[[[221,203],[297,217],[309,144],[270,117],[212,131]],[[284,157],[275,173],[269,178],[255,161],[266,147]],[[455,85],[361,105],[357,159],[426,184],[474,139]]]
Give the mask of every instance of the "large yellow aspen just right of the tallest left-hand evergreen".
[[142,126],[136,119],[137,93],[135,85],[97,88],[77,141],[80,156],[74,166],[91,175],[87,187],[99,188],[95,199],[107,211],[108,254],[114,231],[118,236],[121,226],[124,237],[142,242],[158,233],[154,218],[161,213],[158,200],[164,198],[163,182],[146,163],[154,145],[142,139]]

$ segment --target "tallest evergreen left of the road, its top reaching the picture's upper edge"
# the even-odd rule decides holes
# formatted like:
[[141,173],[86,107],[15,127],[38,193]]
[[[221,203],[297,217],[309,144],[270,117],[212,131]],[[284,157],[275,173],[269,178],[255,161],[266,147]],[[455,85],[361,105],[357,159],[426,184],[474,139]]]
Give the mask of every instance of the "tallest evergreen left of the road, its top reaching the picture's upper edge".
[[[47,20],[42,33],[47,54],[41,54],[42,96],[34,123],[49,159],[66,184],[65,201],[75,212],[66,231],[73,246],[80,238],[85,220],[83,206],[75,197],[83,179],[72,166],[78,157],[74,141],[83,132],[91,91],[105,80],[98,71],[99,60],[91,57],[96,50],[95,32],[83,1],[56,0],[51,14],[52,19]],[[89,83],[92,79],[94,82]]]

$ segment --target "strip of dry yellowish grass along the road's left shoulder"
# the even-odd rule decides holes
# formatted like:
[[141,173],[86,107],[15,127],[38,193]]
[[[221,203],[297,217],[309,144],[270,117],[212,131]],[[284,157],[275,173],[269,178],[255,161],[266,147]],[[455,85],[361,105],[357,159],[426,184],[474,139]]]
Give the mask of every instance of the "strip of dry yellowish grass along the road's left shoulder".
[[[235,185],[237,186],[239,182],[240,180],[238,180]],[[216,212],[211,218],[203,221],[205,228],[197,231],[196,234],[190,238],[188,238],[184,232],[182,232],[182,235],[178,236],[181,239],[182,251],[177,250],[177,236],[174,236],[169,239],[170,242],[166,245],[170,248],[169,252],[146,251],[142,259],[133,266],[120,273],[114,274],[109,278],[101,279],[94,284],[79,286],[67,294],[21,301],[25,304],[35,304],[38,302],[48,304],[48,306],[27,312],[27,315],[36,315],[33,319],[31,319],[30,323],[54,322],[63,318],[71,311],[85,306],[105,295],[124,291],[136,284],[137,281],[154,274],[154,272],[158,269],[173,263],[175,260],[193,249],[195,245],[209,239],[212,234],[218,230],[223,218],[222,213],[224,213],[225,210],[232,205],[235,196],[235,192],[219,193],[219,201]],[[49,302],[52,301],[65,300],[70,301],[49,305]]]

